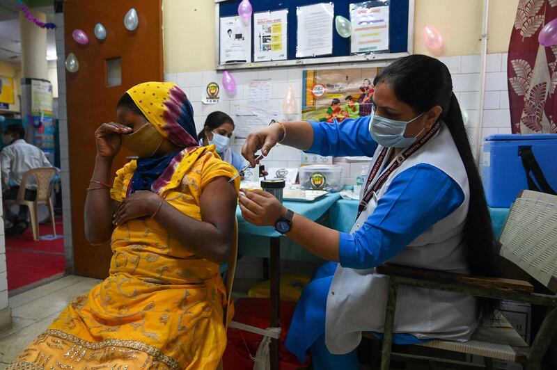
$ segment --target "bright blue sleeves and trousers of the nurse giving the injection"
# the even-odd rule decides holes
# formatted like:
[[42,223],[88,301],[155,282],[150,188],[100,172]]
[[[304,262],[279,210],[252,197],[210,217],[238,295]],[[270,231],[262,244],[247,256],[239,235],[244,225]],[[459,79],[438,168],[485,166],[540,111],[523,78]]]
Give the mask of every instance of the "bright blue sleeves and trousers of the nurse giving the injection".
[[[310,122],[313,145],[309,153],[323,156],[369,156],[377,143],[369,131],[370,116],[334,124]],[[340,233],[340,266],[366,269],[395,257],[425,230],[459,208],[462,188],[445,172],[420,163],[400,172],[379,199],[375,211],[352,234]],[[286,348],[304,362],[311,348],[315,369],[359,369],[356,350],[332,355],[325,346],[327,296],[337,263],[321,266],[297,304]],[[381,333],[377,333],[380,337]],[[396,344],[416,344],[427,339],[395,333]]]

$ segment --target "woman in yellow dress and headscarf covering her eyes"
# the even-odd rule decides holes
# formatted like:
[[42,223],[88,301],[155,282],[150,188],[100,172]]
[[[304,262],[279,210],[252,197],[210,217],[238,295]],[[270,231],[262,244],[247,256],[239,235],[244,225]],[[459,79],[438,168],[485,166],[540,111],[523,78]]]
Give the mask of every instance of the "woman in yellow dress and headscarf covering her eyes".
[[[111,239],[110,275],[75,299],[8,369],[215,369],[226,347],[219,264],[239,182],[214,145],[198,147],[174,83],[134,86],[118,122],[95,132],[86,236]],[[139,159],[109,177],[120,146]],[[94,263],[93,261],[91,263]]]

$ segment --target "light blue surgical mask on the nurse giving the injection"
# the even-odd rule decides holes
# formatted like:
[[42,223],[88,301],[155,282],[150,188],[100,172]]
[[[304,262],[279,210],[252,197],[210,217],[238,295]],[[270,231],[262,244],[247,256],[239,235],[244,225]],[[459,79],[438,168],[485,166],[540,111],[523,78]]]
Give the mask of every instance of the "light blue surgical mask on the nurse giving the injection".
[[382,147],[409,147],[414,144],[425,127],[413,138],[405,138],[406,127],[410,122],[417,120],[423,115],[407,121],[389,120],[379,115],[372,115],[370,119],[370,134],[373,140]]

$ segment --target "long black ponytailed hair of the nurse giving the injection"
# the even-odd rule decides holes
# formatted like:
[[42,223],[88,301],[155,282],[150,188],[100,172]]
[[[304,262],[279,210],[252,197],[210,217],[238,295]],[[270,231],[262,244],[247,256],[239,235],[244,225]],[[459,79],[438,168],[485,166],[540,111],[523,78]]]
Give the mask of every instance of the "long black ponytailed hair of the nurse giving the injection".
[[[387,83],[397,99],[411,106],[416,113],[427,112],[434,106],[443,109],[439,119],[453,136],[468,175],[470,200],[464,227],[468,268],[474,275],[499,275],[496,243],[483,184],[466,135],[460,106],[453,93],[453,81],[448,68],[429,56],[406,56],[382,70],[373,84],[377,86],[380,82]],[[490,319],[498,307],[498,300],[478,298],[478,318]]]

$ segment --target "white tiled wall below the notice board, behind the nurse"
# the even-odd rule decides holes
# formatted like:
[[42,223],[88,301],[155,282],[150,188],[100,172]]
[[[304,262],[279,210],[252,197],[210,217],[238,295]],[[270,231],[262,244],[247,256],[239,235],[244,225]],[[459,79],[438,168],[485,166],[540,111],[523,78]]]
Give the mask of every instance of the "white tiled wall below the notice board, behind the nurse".
[[[441,58],[449,68],[453,76],[453,86],[455,94],[460,104],[469,114],[469,134],[474,138],[478,124],[479,109],[479,90],[480,90],[480,56],[453,56]],[[368,63],[354,65],[324,65],[317,69],[338,68],[338,67],[369,67],[381,66],[383,63]],[[510,134],[510,114],[508,109],[507,91],[507,54],[489,54],[487,56],[487,76],[485,83],[485,105],[483,111],[484,136],[492,134]],[[246,84],[253,79],[270,79],[272,81],[272,99],[269,102],[271,108],[279,113],[282,111],[281,102],[285,96],[288,86],[292,86],[297,94],[297,108],[301,104],[301,77],[304,67],[271,68],[263,70],[238,70],[233,71],[233,76],[237,83],[235,95],[228,95],[223,90],[221,102],[219,104],[205,105],[201,103],[201,96],[207,83],[216,81],[221,83],[221,72],[207,71],[194,73],[166,74],[166,81],[173,81],[185,90],[189,99],[194,105],[196,113],[196,124],[198,130],[203,127],[203,122],[208,113],[212,111],[224,111],[234,113],[235,107],[245,105]],[[427,93],[427,92],[425,92]],[[283,115],[281,118],[288,120],[299,120],[300,115]],[[233,147],[240,150],[241,140],[235,140]],[[269,167],[298,167],[300,160],[299,150],[278,145],[272,150],[265,166]],[[365,162],[348,163],[343,160],[335,161],[339,166],[343,166],[343,177],[345,184],[354,184],[356,176],[360,175],[362,166]]]

